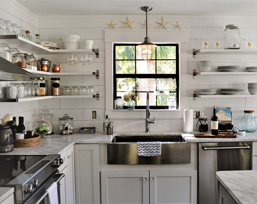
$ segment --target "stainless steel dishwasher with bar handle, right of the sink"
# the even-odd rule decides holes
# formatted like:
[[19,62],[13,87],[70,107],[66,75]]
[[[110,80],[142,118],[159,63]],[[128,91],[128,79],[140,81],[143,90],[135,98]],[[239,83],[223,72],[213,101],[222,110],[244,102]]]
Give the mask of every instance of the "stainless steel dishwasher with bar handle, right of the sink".
[[219,204],[217,171],[251,170],[252,142],[198,144],[198,204]]

